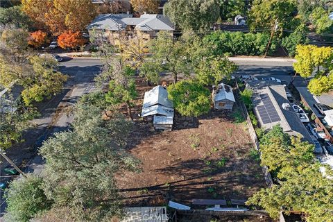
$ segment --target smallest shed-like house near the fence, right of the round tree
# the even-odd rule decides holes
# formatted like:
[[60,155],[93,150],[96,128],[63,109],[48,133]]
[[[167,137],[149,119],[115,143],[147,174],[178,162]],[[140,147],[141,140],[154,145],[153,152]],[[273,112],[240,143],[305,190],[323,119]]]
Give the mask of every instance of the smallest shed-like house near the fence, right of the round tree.
[[220,83],[217,87],[213,85],[212,98],[216,110],[232,110],[236,102],[232,87],[224,83]]

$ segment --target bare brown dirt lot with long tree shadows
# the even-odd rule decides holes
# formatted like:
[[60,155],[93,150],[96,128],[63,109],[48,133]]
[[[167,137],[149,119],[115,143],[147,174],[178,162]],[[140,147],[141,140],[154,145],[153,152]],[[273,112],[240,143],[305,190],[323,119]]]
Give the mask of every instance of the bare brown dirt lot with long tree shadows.
[[[149,88],[139,89],[133,116],[141,111],[143,92]],[[128,152],[142,161],[142,172],[117,176],[124,204],[246,199],[265,187],[246,124],[235,123],[232,113],[211,112],[199,119],[176,116],[176,128],[171,132],[154,132],[136,118]]]

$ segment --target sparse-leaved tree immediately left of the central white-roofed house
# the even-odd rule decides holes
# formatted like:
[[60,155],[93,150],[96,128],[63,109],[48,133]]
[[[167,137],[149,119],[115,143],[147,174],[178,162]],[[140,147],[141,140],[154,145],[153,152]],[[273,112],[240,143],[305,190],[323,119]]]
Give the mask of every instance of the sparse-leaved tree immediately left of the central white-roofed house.
[[126,103],[128,116],[132,117],[132,101],[137,97],[135,89],[135,70],[124,65],[119,59],[116,61],[109,83],[109,91],[105,94],[105,99],[112,105]]

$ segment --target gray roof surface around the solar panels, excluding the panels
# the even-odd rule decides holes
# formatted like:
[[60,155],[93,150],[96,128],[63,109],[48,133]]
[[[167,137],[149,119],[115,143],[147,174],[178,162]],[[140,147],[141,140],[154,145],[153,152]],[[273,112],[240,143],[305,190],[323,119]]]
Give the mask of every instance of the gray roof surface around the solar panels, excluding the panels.
[[[311,137],[307,128],[305,128],[302,121],[300,121],[296,112],[284,110],[282,108],[283,103],[291,105],[287,99],[286,89],[284,85],[280,85],[276,81],[262,81],[262,80],[249,80],[248,86],[253,89],[253,106],[255,114],[259,120],[262,128],[272,128],[273,126],[280,124],[285,133],[289,135],[298,136],[301,135],[304,139],[311,142]],[[257,107],[262,105],[262,99],[260,94],[268,94],[271,99],[275,110],[278,112],[280,121],[274,121],[273,123],[263,123]]]

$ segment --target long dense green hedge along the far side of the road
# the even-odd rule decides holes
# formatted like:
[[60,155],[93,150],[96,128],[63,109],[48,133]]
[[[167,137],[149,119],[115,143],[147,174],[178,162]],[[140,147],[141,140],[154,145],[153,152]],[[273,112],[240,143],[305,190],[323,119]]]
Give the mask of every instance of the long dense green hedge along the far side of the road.
[[[212,46],[212,51],[217,55],[261,56],[266,51],[269,37],[267,33],[216,31],[206,35],[203,40]],[[276,46],[273,40],[268,54],[273,53]]]

